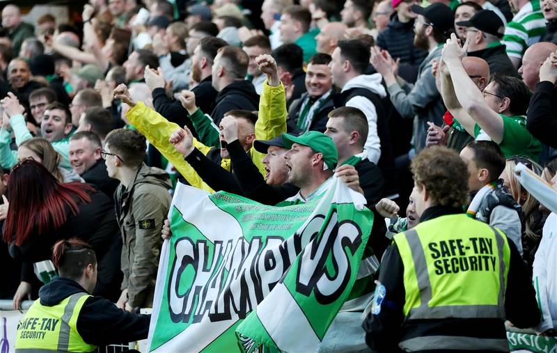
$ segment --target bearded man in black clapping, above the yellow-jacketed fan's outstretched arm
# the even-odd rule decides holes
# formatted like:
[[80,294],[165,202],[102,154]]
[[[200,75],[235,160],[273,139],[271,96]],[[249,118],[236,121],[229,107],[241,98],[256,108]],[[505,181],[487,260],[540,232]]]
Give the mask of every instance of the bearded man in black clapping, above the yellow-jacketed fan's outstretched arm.
[[[226,45],[227,43],[221,38],[203,38],[199,41],[191,57],[191,77],[194,81],[199,82],[191,91],[195,93],[199,109],[206,113],[213,110],[214,100],[217,98],[217,90],[212,86],[211,77],[214,57],[217,56],[217,51]],[[156,72],[148,68],[145,74],[145,82],[152,91],[152,103],[155,110],[169,121],[182,125],[184,117],[189,114],[179,100],[171,100],[166,95],[162,72]]]

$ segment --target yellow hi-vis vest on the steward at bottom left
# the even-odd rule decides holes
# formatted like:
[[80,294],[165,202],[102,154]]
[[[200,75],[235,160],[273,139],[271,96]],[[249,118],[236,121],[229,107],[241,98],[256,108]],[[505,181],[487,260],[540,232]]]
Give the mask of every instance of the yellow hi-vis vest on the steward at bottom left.
[[93,352],[77,332],[77,317],[87,293],[75,293],[55,306],[43,306],[37,299],[17,324],[15,352]]

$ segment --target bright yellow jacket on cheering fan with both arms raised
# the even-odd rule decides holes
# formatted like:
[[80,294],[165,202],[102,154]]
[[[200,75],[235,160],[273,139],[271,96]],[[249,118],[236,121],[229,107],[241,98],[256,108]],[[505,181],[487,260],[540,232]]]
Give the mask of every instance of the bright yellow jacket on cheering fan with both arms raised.
[[[284,86],[269,86],[267,81],[263,84],[263,91],[259,100],[259,113],[256,123],[256,139],[269,140],[286,132],[286,97]],[[143,102],[138,102],[136,106],[126,113],[126,118],[134,125],[137,131],[141,132],[159,152],[164,155],[168,162],[171,162],[176,170],[189,182],[191,186],[213,192],[201,177],[194,171],[184,157],[175,150],[174,146],[168,142],[170,135],[180,126],[171,123],[164,116],[153,109],[146,107]],[[185,117],[186,118],[186,117]],[[204,155],[211,149],[203,143],[194,139],[194,146]],[[253,164],[260,173],[265,175],[265,168],[262,160],[265,157],[262,153],[251,148],[248,151]],[[221,166],[230,171],[230,159],[223,159]]]

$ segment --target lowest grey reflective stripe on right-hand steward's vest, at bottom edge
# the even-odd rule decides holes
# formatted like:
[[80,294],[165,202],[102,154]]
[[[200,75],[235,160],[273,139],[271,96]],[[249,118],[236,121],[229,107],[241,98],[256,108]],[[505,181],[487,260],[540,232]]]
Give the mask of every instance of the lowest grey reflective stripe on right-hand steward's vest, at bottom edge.
[[399,343],[400,348],[407,352],[421,350],[455,350],[455,347],[466,348],[466,350],[477,351],[501,351],[508,352],[509,344],[506,339],[477,338],[462,336],[423,336],[409,338]]

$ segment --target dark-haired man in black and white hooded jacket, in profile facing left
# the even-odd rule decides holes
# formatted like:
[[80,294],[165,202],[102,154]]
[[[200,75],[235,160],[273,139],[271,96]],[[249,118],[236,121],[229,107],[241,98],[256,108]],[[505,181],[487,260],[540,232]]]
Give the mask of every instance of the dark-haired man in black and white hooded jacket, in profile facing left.
[[382,98],[386,97],[381,74],[366,75],[370,49],[359,40],[341,40],[334,50],[331,63],[333,83],[340,88],[335,107],[360,109],[368,119],[368,137],[364,144],[368,159],[377,164],[381,157],[381,144],[377,124],[383,118]]

